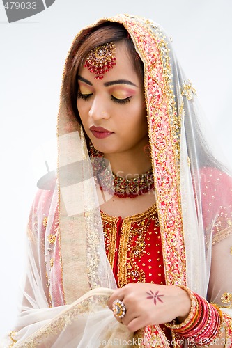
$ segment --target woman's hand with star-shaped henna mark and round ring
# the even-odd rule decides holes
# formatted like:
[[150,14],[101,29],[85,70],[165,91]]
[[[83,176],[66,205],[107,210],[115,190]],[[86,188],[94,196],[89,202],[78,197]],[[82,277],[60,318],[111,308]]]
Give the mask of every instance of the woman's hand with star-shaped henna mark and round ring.
[[112,310],[114,300],[123,301],[125,317],[117,318],[134,332],[146,325],[164,324],[178,317],[182,322],[190,312],[187,292],[178,286],[150,283],[130,283],[114,291],[108,301]]

